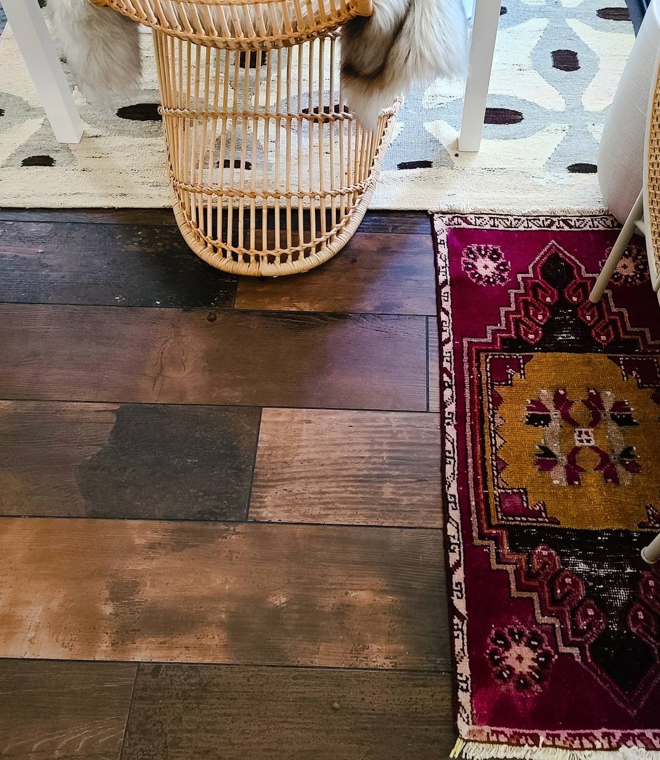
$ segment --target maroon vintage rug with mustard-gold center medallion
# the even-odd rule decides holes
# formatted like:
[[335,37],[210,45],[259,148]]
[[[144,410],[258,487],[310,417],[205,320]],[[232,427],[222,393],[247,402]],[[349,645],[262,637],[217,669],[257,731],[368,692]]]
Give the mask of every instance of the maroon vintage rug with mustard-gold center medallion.
[[610,217],[434,219],[455,753],[660,758],[660,572],[640,557],[660,531],[660,306],[643,242],[593,305]]

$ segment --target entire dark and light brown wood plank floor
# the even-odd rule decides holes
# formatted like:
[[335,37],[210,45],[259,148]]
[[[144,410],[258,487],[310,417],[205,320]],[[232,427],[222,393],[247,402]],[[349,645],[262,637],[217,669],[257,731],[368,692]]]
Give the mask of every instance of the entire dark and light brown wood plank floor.
[[0,755],[453,746],[431,225],[298,277],[0,209]]

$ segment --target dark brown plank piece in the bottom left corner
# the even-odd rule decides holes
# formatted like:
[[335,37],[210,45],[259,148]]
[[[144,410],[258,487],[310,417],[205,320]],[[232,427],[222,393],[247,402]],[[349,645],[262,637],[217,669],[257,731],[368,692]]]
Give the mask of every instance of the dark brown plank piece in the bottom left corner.
[[0,756],[118,760],[137,665],[0,660]]

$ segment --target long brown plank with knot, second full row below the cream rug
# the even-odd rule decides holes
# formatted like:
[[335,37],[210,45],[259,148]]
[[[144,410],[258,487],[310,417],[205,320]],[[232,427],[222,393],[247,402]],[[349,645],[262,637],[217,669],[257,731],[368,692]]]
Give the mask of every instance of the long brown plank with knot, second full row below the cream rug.
[[0,304],[0,398],[426,409],[425,319]]

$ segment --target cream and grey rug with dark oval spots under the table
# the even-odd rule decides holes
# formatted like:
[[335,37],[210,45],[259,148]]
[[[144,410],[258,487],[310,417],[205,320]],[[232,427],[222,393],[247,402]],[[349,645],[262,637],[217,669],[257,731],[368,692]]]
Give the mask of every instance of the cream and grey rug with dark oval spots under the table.
[[[103,110],[75,92],[85,135],[60,145],[5,30],[0,205],[169,206],[153,45],[142,39],[141,93]],[[624,0],[502,0],[481,150],[457,149],[462,82],[409,93],[371,207],[602,211],[598,141],[633,41]]]

